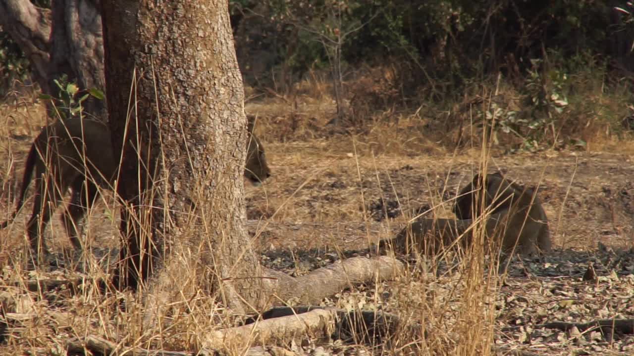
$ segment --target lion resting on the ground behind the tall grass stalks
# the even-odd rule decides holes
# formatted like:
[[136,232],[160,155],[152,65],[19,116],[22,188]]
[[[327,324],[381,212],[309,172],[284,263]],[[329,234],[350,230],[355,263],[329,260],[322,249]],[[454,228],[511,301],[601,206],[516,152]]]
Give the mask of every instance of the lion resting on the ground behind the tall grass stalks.
[[[485,182],[475,175],[458,194],[453,212],[458,219],[417,217],[391,240],[392,246],[403,253],[436,255],[446,248],[467,248],[474,236],[484,233],[485,241],[493,239],[504,253],[517,251],[526,256],[550,251],[546,213],[533,189],[507,181],[499,173],[487,175]],[[476,220],[479,224],[474,224]]]

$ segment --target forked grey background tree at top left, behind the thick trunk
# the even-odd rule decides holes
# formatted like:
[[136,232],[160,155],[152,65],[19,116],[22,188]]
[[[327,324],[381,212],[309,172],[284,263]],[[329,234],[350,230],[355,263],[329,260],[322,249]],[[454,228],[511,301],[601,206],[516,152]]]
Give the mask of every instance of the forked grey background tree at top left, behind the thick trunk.
[[[0,0],[0,25],[29,58],[42,92],[58,98],[54,80],[63,75],[81,89],[103,90],[99,1],[55,0],[49,10],[28,0]],[[82,105],[105,120],[105,101],[88,98]]]

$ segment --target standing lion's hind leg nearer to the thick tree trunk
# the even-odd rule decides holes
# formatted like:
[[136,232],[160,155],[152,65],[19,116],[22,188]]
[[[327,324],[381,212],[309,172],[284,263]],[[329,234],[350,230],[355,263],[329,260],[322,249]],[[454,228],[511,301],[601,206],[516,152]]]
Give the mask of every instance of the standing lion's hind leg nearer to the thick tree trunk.
[[87,181],[83,175],[77,177],[73,182],[72,196],[70,203],[68,203],[68,208],[63,213],[62,222],[75,250],[82,250],[82,243],[77,229],[87,210],[93,207],[96,195],[97,187],[93,182]]

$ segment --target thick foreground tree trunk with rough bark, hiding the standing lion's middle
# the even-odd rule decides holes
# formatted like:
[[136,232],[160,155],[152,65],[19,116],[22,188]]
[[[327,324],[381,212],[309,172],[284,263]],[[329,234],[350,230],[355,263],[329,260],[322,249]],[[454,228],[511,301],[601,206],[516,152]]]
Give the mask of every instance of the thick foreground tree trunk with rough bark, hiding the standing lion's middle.
[[134,288],[160,270],[161,283],[214,286],[228,305],[242,304],[235,291],[256,302],[242,77],[226,0],[104,0],[102,16],[109,122],[123,151],[117,191],[128,205],[119,282]]

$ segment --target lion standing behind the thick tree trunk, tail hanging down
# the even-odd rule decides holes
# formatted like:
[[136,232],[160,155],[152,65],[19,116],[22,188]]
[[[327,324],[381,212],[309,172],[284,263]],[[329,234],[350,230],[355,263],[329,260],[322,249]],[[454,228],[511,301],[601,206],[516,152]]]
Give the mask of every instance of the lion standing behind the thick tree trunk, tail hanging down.
[[[266,162],[264,146],[253,129],[254,120],[249,118],[244,175],[254,186],[259,186],[270,177],[271,170]],[[0,224],[0,229],[6,228],[22,208],[35,171],[33,212],[27,222],[31,251],[36,257],[39,252],[48,255],[42,234],[68,188],[72,196],[61,220],[75,250],[81,251],[76,227],[93,206],[99,188],[113,189],[118,170],[119,160],[113,155],[110,130],[106,124],[81,118],[57,120],[44,127],[31,145],[15,211],[10,219]]]

